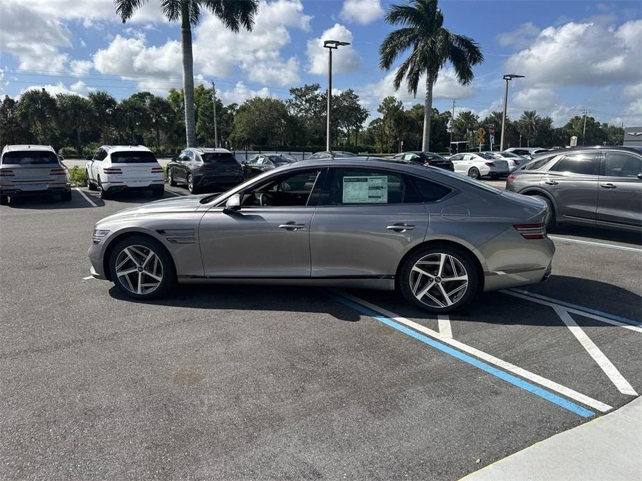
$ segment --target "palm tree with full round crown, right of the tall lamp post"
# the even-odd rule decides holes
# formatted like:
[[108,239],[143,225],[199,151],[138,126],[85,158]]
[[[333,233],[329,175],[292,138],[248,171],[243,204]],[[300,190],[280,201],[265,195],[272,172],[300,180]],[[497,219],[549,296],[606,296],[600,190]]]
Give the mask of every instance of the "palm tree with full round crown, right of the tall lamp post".
[[473,81],[473,66],[483,62],[484,55],[473,39],[444,28],[444,15],[437,0],[410,0],[408,5],[392,5],[385,19],[402,28],[385,37],[379,48],[379,66],[389,70],[400,55],[411,50],[397,68],[394,87],[398,90],[406,78],[408,91],[416,96],[419,79],[425,75],[422,149],[429,150],[432,87],[439,71],[449,61],[455,67],[459,83],[468,85]]

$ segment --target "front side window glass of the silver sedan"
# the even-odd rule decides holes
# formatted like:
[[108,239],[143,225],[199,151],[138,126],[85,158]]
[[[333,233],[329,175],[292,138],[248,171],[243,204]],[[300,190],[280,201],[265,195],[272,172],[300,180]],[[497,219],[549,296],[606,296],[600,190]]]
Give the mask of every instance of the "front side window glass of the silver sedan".
[[242,205],[254,207],[296,207],[307,205],[319,170],[271,177],[257,186],[244,191]]

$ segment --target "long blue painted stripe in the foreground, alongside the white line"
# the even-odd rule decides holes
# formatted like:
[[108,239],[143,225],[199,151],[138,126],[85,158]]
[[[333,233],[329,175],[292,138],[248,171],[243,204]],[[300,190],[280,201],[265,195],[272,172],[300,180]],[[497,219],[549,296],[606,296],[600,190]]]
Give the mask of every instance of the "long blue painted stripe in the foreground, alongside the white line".
[[390,326],[391,328],[396,329],[397,331],[403,332],[404,334],[407,334],[410,337],[423,342],[424,344],[428,344],[430,347],[434,347],[435,349],[438,349],[441,352],[449,354],[454,358],[467,362],[471,366],[477,367],[478,369],[482,369],[482,371],[486,371],[488,374],[492,374],[493,376],[496,376],[502,379],[503,381],[506,381],[507,383],[510,383],[516,387],[520,387],[525,391],[535,394],[536,396],[539,396],[543,399],[546,399],[546,401],[555,403],[561,406],[561,408],[567,409],[571,412],[575,412],[575,414],[579,414],[582,417],[593,417],[595,415],[594,412],[589,411],[586,408],[582,408],[582,406],[580,405],[577,405],[575,403],[572,403],[571,401],[561,398],[556,394],[552,394],[552,392],[548,392],[547,390],[544,390],[539,386],[536,386],[527,381],[524,381],[521,378],[513,376],[512,374],[508,374],[505,371],[501,371],[496,367],[488,365],[486,362],[482,362],[476,358],[468,356],[468,354],[463,353],[462,351],[457,351],[457,349],[453,349],[452,347],[446,344],[442,344],[441,342],[428,338],[428,336],[425,336],[416,331],[413,331],[412,329],[409,329],[403,324],[398,324],[398,322],[391,320],[389,317],[381,315],[380,313],[376,313],[375,311],[371,311],[371,309],[366,308],[361,304],[357,304],[356,302],[350,301],[350,299],[346,299],[345,297],[341,297],[341,296],[333,296],[333,297],[337,301],[343,304],[346,304],[346,306],[350,306],[351,308],[355,309],[356,311],[359,311],[360,313],[369,315],[373,319],[378,320],[379,322],[382,322],[383,324],[386,324],[387,326]]

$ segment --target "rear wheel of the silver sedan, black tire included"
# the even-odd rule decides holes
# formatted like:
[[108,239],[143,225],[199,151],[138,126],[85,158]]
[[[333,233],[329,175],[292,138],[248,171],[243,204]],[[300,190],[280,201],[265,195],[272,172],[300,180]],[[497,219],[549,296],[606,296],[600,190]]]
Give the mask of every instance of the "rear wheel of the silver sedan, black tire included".
[[[446,254],[455,259],[455,261],[447,260],[442,269],[443,273],[441,277],[437,276],[437,274],[439,274],[439,265],[427,264],[422,268],[425,270],[424,272],[430,274],[429,276],[414,272],[413,268],[416,262],[424,258],[441,259],[439,254]],[[432,262],[432,260],[429,262]],[[453,265],[455,267],[454,274]],[[464,275],[468,278],[467,281],[448,281],[449,277],[464,277]],[[441,279],[442,277],[443,280]],[[435,281],[435,279],[439,280]],[[421,296],[421,300],[419,300],[419,297],[413,292],[413,287],[416,287],[416,292],[419,292],[419,295],[421,295],[421,292],[423,292],[425,288],[429,288],[431,282],[434,282],[432,288],[430,288],[427,295]],[[473,300],[477,293],[479,283],[478,270],[471,258],[471,254],[457,247],[431,245],[414,252],[414,254],[406,259],[400,268],[398,288],[410,304],[424,311],[431,313],[450,313],[463,308]],[[465,287],[462,287],[464,285]],[[444,291],[441,290],[442,287]],[[457,288],[460,288],[459,292],[457,292]],[[461,292],[462,290],[463,292]],[[455,291],[454,294],[452,294],[453,291]],[[448,301],[446,301],[442,292],[451,294],[452,297],[448,297],[451,303],[450,305],[448,305]],[[443,306],[439,306],[437,301],[430,298],[430,295],[432,295],[433,299],[437,299],[439,304]]]

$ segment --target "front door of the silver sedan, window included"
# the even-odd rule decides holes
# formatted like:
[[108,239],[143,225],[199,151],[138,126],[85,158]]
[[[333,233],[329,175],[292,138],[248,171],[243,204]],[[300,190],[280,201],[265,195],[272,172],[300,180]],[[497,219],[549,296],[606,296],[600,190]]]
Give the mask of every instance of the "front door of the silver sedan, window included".
[[248,186],[239,211],[212,207],[199,239],[205,277],[310,277],[310,223],[325,169],[275,174]]

